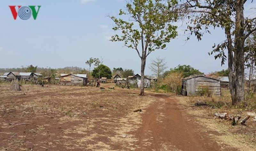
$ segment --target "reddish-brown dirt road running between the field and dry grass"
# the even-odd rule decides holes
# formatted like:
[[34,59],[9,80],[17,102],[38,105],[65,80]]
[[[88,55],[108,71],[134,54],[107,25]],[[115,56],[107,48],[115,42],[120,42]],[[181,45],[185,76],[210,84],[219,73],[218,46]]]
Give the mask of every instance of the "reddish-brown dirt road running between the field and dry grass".
[[145,110],[142,126],[136,131],[139,138],[136,150],[206,151],[235,150],[217,144],[209,133],[200,132],[200,125],[188,116],[177,100],[155,94],[157,101]]

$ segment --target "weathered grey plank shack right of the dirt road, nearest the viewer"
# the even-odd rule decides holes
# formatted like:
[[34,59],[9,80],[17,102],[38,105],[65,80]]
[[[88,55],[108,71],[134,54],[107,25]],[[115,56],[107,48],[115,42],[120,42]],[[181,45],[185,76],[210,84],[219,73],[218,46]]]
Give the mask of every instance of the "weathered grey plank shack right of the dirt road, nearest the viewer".
[[220,80],[206,77],[204,75],[193,75],[182,79],[182,95],[196,95],[203,89],[211,91],[213,95],[221,95]]

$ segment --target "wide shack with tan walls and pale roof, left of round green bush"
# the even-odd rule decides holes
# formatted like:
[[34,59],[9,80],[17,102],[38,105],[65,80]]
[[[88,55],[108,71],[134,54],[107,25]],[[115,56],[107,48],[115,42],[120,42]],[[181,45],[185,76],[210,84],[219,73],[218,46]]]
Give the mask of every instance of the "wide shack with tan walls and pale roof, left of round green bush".
[[60,84],[65,86],[86,86],[87,79],[86,74],[68,74],[60,76]]

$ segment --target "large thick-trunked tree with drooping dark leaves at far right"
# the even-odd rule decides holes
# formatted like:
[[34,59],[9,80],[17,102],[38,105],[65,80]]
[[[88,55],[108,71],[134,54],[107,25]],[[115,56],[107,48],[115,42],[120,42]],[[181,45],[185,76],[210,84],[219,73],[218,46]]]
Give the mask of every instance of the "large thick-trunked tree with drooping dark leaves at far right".
[[[182,4],[175,12],[181,12],[190,20],[189,34],[195,34],[201,40],[204,33],[210,33],[210,27],[220,27],[226,34],[226,40],[213,46],[216,58],[224,64],[228,58],[229,89],[232,104],[244,101],[244,42],[256,31],[256,18],[244,17],[244,4],[247,0],[181,0]],[[252,1],[248,1],[251,3]],[[171,13],[173,10],[170,11]],[[226,53],[225,50],[228,50]]]

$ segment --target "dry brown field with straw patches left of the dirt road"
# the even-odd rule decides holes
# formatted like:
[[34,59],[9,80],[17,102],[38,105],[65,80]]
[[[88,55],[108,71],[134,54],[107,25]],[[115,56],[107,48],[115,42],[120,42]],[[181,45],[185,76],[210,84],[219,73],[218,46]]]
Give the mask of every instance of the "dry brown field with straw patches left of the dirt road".
[[[0,150],[132,150],[153,97],[95,87],[0,87]],[[137,125],[137,126],[136,126]]]

